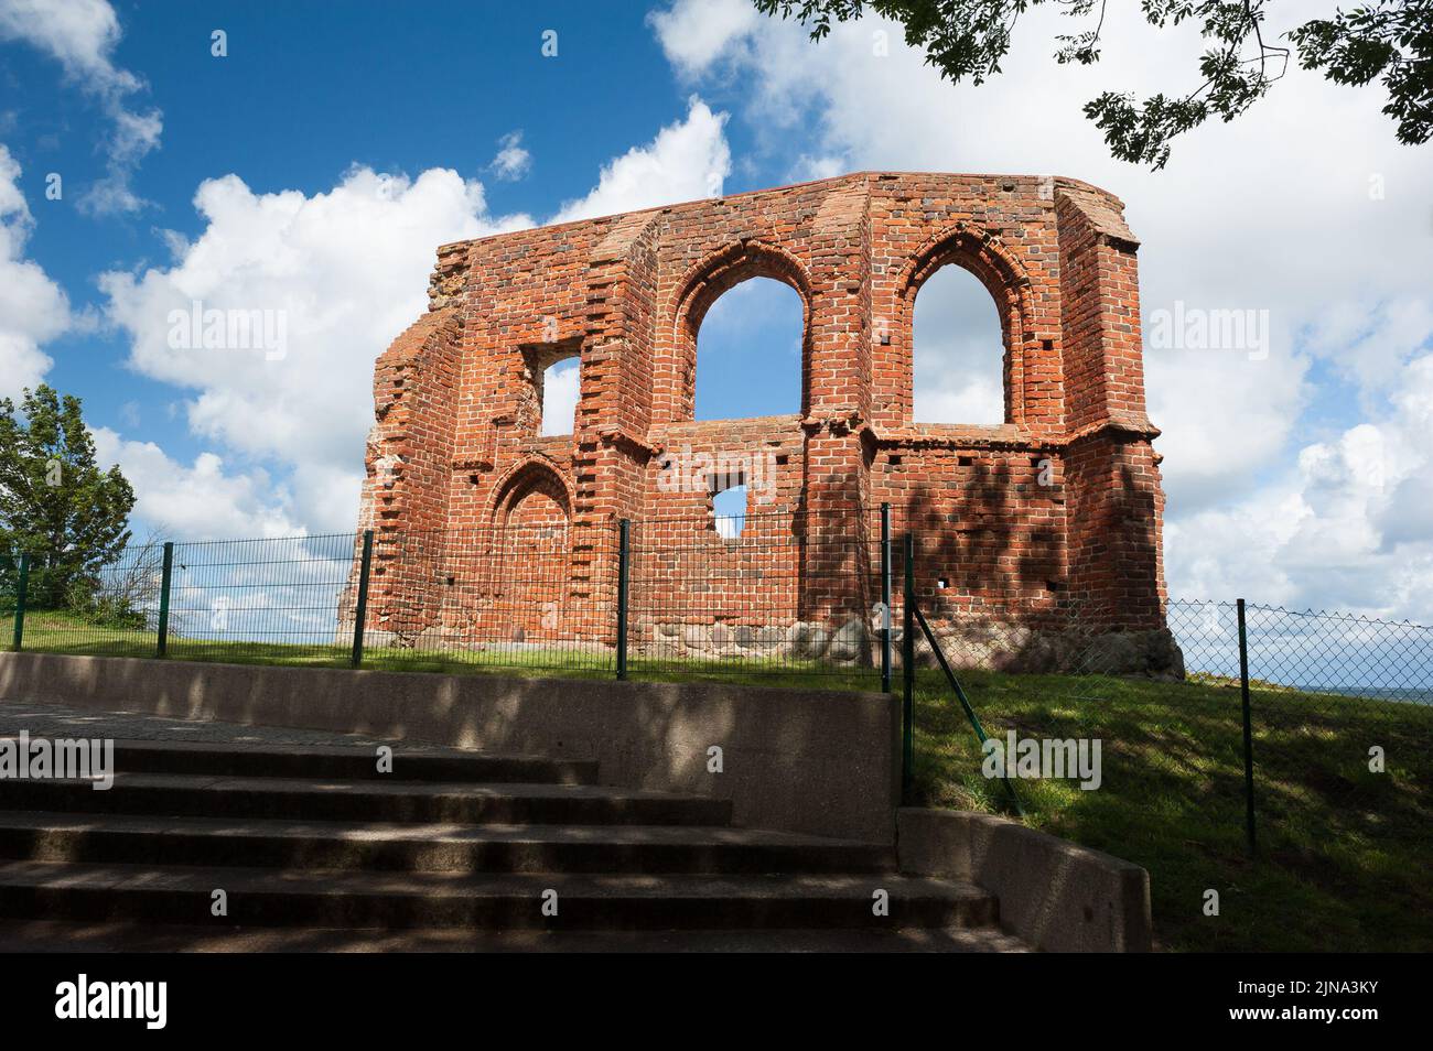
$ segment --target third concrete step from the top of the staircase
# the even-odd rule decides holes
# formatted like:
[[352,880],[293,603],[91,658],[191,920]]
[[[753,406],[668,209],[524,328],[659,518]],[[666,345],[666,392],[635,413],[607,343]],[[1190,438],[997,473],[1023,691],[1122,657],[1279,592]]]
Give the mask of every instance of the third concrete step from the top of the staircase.
[[[118,790],[118,789],[115,789]],[[403,825],[0,812],[0,858],[385,872],[891,872],[891,848],[714,826]]]

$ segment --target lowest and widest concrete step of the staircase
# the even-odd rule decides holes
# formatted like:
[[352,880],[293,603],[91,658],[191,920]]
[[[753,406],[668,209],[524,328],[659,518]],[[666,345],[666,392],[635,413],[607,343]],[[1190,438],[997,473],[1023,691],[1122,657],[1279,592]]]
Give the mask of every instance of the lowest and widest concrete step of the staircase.
[[[214,891],[228,916],[211,915]],[[557,893],[545,916],[543,895]],[[888,915],[877,916],[877,892]],[[972,928],[999,922],[979,888],[894,875],[459,875],[0,862],[0,916],[201,926],[550,931]]]

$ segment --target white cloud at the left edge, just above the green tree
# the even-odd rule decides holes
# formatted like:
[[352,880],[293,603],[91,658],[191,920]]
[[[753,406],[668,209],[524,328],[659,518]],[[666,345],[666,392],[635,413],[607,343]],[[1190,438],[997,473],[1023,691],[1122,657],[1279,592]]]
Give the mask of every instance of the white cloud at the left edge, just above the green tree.
[[20,165],[0,143],[0,398],[33,388],[53,361],[40,345],[70,326],[64,292],[24,246],[34,218],[20,192]]

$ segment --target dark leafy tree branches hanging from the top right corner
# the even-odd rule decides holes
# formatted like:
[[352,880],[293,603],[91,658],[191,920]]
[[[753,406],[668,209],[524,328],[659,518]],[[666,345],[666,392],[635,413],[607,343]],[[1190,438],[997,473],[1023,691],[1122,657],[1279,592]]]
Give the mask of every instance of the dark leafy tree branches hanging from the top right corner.
[[[1201,82],[1182,96],[1105,92],[1085,105],[1085,116],[1105,133],[1121,160],[1159,169],[1169,143],[1209,117],[1232,120],[1284,76],[1291,49],[1265,40],[1271,0],[1141,0],[1156,29],[1199,24],[1208,42],[1198,60]],[[1078,32],[1059,37],[1059,63],[1092,64],[1101,56],[1108,0],[754,0],[757,10],[795,17],[811,39],[831,21],[858,19],[870,9],[901,23],[906,43],[952,83],[980,84],[1000,72],[1016,21],[1030,7],[1055,3]],[[1307,3],[1307,0],[1300,0]],[[1323,70],[1337,84],[1380,80],[1383,112],[1397,125],[1399,142],[1417,145],[1433,135],[1433,0],[1373,0],[1331,17],[1311,19],[1287,33],[1304,69]]]

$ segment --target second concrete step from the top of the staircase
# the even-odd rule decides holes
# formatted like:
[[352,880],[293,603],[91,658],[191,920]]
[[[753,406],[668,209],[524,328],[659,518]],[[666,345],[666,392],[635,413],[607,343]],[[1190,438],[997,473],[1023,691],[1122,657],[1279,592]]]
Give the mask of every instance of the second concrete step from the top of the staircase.
[[0,780],[0,809],[297,820],[502,825],[727,825],[731,800],[595,785],[477,785],[314,778],[118,773],[87,780]]

